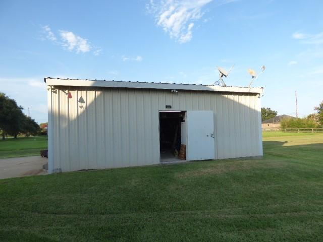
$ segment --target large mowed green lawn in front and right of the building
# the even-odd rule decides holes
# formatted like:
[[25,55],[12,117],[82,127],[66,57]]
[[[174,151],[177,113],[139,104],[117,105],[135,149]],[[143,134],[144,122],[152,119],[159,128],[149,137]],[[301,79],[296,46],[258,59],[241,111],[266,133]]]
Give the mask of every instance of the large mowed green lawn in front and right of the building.
[[0,180],[0,241],[319,241],[323,134],[263,159]]

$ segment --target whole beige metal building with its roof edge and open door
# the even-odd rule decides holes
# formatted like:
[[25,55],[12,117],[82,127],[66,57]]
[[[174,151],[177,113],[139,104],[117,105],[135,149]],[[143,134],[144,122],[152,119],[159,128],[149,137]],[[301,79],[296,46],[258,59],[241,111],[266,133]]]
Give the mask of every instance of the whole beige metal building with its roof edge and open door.
[[262,156],[262,88],[44,81],[49,173]]

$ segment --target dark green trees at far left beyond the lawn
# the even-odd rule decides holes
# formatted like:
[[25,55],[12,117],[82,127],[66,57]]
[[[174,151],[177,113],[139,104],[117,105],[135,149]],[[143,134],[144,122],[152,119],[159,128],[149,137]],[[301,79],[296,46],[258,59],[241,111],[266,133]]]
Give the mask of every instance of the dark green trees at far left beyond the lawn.
[[17,138],[19,134],[30,136],[40,132],[39,125],[34,119],[23,113],[23,107],[17,102],[0,92],[0,131],[2,138],[10,135]]

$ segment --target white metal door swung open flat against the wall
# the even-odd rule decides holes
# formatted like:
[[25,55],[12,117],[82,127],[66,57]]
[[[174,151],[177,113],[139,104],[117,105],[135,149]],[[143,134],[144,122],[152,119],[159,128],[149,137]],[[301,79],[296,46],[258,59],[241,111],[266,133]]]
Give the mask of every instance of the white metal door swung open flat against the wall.
[[214,159],[212,111],[187,111],[187,160]]

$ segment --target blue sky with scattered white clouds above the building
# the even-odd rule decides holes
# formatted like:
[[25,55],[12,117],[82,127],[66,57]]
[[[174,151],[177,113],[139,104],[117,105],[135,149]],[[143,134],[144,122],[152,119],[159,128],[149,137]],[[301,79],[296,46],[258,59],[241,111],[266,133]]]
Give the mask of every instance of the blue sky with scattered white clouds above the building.
[[262,106],[323,100],[323,1],[1,1],[0,91],[47,121],[44,77],[228,86],[265,72]]

